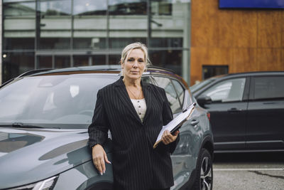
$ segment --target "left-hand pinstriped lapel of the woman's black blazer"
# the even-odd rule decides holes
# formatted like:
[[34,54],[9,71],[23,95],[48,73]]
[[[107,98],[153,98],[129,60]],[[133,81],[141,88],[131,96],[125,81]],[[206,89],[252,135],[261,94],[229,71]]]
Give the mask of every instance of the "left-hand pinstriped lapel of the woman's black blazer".
[[[124,85],[124,81],[122,80],[123,77],[119,78],[119,80],[116,81],[116,83],[114,83],[114,85],[116,86],[116,92],[119,95],[119,98],[121,100],[121,102],[123,103],[123,105],[125,105],[125,107],[127,107],[127,109],[130,112],[130,115],[132,115],[132,117],[134,117],[136,120],[138,120],[138,122],[141,122],[140,117],[138,116],[133,103],[130,100],[129,94],[127,93],[126,87]],[[144,93],[144,92],[143,92]],[[147,102],[146,105],[148,106]],[[147,107],[148,110],[148,107]],[[146,111],[147,112],[147,111]]]

